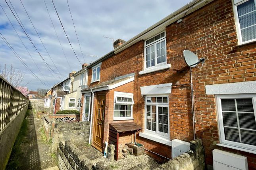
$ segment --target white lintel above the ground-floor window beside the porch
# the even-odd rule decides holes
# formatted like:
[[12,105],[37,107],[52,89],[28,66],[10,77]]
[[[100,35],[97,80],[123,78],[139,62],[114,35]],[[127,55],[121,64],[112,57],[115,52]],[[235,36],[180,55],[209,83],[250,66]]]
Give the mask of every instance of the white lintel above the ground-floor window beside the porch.
[[141,94],[142,95],[170,94],[171,93],[171,85],[172,85],[172,83],[143,86],[143,87],[141,87]]

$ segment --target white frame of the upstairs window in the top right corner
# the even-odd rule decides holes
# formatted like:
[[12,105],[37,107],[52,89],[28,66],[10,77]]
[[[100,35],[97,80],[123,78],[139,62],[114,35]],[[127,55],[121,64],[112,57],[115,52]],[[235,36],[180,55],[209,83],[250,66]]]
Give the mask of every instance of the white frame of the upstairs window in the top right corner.
[[[241,2],[237,2],[236,4],[234,1],[235,0],[232,0],[232,5],[233,5],[233,11],[234,11],[234,17],[235,17],[238,45],[244,45],[244,44],[248,44],[251,42],[255,42],[256,38],[243,42],[241,28],[240,28],[240,22],[239,22],[239,17],[238,17],[237,6],[247,2],[248,0],[241,0]],[[254,3],[256,4],[256,0],[254,0]]]

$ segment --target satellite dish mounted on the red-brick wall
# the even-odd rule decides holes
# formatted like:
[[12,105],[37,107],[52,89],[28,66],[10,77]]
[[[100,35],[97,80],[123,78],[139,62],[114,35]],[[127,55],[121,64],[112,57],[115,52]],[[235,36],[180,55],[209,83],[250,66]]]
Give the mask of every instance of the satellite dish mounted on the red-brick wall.
[[184,50],[183,55],[184,55],[185,62],[190,67],[195,67],[197,64],[201,62],[204,63],[205,61],[205,59],[203,58],[198,60],[197,55],[189,50]]

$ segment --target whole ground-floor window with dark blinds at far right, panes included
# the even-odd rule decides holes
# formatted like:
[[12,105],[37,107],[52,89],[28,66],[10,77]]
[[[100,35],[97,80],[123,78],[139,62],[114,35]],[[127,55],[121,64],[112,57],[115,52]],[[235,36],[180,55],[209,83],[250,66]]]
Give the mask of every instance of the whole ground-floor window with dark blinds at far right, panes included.
[[220,145],[256,153],[256,94],[216,96]]

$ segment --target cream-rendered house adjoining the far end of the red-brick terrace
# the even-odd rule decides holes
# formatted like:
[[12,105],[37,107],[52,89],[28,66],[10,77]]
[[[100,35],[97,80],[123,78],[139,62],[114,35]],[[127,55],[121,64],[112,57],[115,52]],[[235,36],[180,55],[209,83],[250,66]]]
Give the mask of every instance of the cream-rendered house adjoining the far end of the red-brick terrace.
[[85,89],[87,87],[87,71],[85,67],[87,64],[82,65],[82,69],[77,71],[72,75],[73,85],[72,90],[68,91],[67,94],[64,95],[64,104],[62,105],[62,110],[78,110],[81,108],[81,89]]

